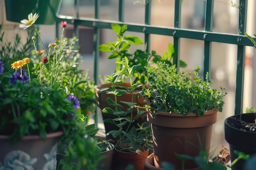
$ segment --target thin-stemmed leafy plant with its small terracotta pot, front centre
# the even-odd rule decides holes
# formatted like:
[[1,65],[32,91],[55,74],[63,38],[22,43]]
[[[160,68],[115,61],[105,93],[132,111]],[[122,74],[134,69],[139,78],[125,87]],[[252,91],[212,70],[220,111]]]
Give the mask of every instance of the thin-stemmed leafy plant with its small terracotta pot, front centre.
[[[128,106],[128,109],[117,103],[117,95],[121,96],[126,93],[126,91],[129,91],[132,94],[141,86],[132,84],[132,86],[126,87],[122,86],[122,82],[118,81],[117,77],[120,75],[126,75],[129,80],[132,81],[133,71],[136,68],[136,66],[132,66],[130,68],[128,65],[128,58],[125,57],[124,59],[125,60],[119,62],[119,64],[123,65],[125,69],[114,73],[111,76],[107,76],[113,85],[111,89],[105,90],[110,91],[109,93],[114,96],[115,100],[108,97],[107,102],[111,107],[104,108],[102,112],[103,114],[116,116],[115,118],[108,118],[104,120],[117,127],[117,130],[111,130],[107,133],[107,136],[111,135],[112,139],[115,140],[116,146],[116,157],[114,158],[115,161],[113,161],[114,164],[112,167],[115,170],[123,170],[130,163],[135,170],[143,170],[144,161],[149,152],[148,148],[152,147],[150,144],[150,140],[152,140],[151,128],[146,124],[146,122],[144,122],[144,124],[137,124],[138,128],[132,126],[132,123],[137,119],[137,117],[146,112],[146,110],[136,108],[136,114],[133,114],[134,106],[137,104],[133,99],[131,99],[131,102],[121,101],[121,103]],[[116,86],[117,83],[119,83],[118,87]],[[102,92],[104,92],[104,89],[99,91],[99,93]],[[114,109],[112,109],[112,107]],[[130,114],[130,116],[128,116],[128,114]],[[139,163],[139,165],[137,165],[137,163]]]

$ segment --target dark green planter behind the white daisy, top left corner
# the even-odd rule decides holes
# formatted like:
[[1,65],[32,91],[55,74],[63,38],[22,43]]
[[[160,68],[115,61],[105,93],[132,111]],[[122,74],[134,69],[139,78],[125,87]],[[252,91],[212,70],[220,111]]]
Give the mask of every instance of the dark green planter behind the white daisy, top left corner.
[[5,0],[6,20],[20,22],[38,13],[36,24],[54,24],[62,0]]

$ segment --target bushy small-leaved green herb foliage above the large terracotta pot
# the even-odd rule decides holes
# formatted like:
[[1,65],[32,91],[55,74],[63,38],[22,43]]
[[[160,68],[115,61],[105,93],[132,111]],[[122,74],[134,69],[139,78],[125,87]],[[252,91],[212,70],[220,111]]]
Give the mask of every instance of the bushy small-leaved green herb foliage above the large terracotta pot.
[[203,116],[206,110],[219,109],[222,112],[224,105],[222,94],[211,88],[212,80],[202,81],[198,76],[200,66],[193,69],[187,75],[178,72],[177,68],[171,67],[163,62],[155,66],[146,66],[147,73],[150,75],[149,88],[141,92],[147,101],[147,107],[164,112],[186,115],[197,113]]

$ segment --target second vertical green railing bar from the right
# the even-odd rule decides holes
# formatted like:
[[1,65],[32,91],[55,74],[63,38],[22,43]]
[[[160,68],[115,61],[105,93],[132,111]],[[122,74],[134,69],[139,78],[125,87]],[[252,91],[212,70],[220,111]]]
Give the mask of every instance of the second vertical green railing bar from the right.
[[[205,8],[205,31],[212,31],[213,27],[213,6],[214,0],[207,0],[206,1],[206,8]],[[205,75],[209,73],[209,79],[211,79],[211,42],[204,41],[204,80],[206,80]]]

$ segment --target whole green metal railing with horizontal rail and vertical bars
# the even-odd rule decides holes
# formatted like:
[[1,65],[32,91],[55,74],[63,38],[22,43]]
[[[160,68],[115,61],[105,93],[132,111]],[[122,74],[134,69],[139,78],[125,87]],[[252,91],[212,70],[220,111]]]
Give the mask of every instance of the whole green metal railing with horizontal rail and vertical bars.
[[[108,21],[99,19],[99,4],[100,0],[95,0],[95,18],[81,19],[78,15],[78,1],[75,0],[75,7],[77,8],[76,17],[64,17],[58,16],[57,22],[65,19],[69,24],[74,24],[75,29],[77,26],[88,26],[94,28],[94,80],[97,84],[98,79],[98,60],[99,51],[97,46],[99,45],[99,30],[100,29],[111,29],[112,23],[127,24],[127,31],[134,31],[144,33],[145,44],[148,44],[147,51],[150,51],[150,35],[167,35],[173,37],[173,45],[177,49],[177,59],[173,62],[176,66],[180,66],[180,39],[188,38],[194,40],[204,41],[204,75],[209,72],[211,73],[211,44],[212,42],[221,42],[228,44],[237,45],[237,71],[236,71],[236,99],[235,99],[235,114],[242,113],[243,109],[243,82],[244,82],[244,65],[245,65],[245,46],[253,46],[252,42],[244,35],[246,30],[246,19],[247,19],[247,0],[240,0],[239,2],[239,20],[238,20],[238,34],[229,33],[217,33],[213,31],[213,6],[214,0],[206,0],[206,12],[205,12],[205,27],[203,31],[181,29],[181,5],[182,0],[175,0],[175,16],[174,16],[174,27],[160,27],[150,25],[151,17],[151,1],[145,5],[145,21],[144,24],[135,24],[124,22],[124,1],[119,0],[119,13],[118,21]],[[75,31],[76,35],[78,31]],[[209,74],[211,75],[211,74]],[[205,78],[205,77],[204,77]]]

